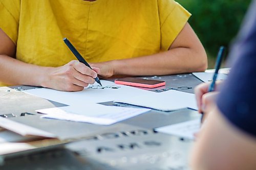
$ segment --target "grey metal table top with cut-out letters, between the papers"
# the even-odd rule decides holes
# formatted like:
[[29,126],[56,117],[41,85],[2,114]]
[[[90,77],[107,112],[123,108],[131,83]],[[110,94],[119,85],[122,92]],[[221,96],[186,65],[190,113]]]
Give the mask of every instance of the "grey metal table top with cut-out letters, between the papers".
[[[164,87],[146,89],[155,92],[175,89],[193,93],[194,87],[201,83],[192,74],[142,78],[166,82]],[[58,150],[63,153],[62,157],[44,156],[55,153],[54,150],[36,152],[34,155],[37,157],[41,155],[39,157],[42,159],[37,159],[36,156],[34,158],[33,154],[8,158],[6,163],[0,166],[1,169],[17,169],[17,167],[19,169],[189,169],[187,155],[193,141],[156,133],[154,128],[195,119],[199,116],[197,111],[191,109],[172,112],[152,110],[111,126],[42,119],[40,114],[35,112],[36,109],[59,107],[63,104],[22,92],[23,89],[35,88],[32,86],[11,88],[0,88],[0,115],[12,114],[14,116],[8,118],[16,122],[54,133],[60,139],[78,141],[67,144],[66,149]],[[118,105],[111,101],[102,104]],[[31,114],[22,115],[21,113],[24,112]],[[23,161],[24,159],[28,161]]]

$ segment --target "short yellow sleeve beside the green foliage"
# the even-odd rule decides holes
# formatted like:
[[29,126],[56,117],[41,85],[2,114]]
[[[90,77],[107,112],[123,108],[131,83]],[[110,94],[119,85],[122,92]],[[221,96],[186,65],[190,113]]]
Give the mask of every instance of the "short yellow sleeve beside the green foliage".
[[158,0],[161,50],[167,51],[191,14],[174,0]]

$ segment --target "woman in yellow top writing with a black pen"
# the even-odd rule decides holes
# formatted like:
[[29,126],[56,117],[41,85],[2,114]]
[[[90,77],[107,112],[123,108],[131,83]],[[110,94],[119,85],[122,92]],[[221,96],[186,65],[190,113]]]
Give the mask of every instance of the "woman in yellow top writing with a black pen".
[[204,71],[189,16],[173,0],[0,0],[0,83],[78,91],[97,75]]

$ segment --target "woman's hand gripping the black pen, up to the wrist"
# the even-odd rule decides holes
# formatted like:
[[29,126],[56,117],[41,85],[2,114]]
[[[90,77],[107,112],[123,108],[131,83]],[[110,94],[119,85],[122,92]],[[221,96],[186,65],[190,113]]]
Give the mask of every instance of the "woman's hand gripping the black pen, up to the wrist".
[[93,69],[72,60],[60,67],[47,67],[41,86],[60,91],[81,91],[89,84],[94,84],[99,68]]

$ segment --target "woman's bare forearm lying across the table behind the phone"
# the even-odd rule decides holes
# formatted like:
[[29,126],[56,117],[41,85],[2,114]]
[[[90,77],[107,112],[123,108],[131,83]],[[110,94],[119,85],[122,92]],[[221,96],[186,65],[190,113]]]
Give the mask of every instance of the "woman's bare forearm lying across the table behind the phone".
[[151,56],[110,61],[114,75],[170,75],[184,72],[204,71],[207,59],[204,51],[177,47]]

